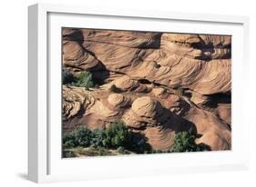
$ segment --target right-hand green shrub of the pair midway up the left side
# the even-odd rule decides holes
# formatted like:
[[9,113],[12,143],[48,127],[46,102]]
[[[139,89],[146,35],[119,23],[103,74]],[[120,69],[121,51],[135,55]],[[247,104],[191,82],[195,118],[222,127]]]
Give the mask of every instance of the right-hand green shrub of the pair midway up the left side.
[[76,82],[73,82],[71,85],[77,87],[85,87],[88,90],[94,86],[92,74],[89,72],[78,74]]

